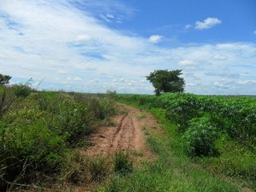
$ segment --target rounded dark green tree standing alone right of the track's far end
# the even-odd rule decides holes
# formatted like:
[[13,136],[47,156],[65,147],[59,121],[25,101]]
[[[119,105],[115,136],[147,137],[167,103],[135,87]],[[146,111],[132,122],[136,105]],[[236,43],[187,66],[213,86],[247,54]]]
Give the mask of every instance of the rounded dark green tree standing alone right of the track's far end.
[[146,79],[154,86],[154,93],[183,92],[185,81],[179,77],[182,70],[154,70]]

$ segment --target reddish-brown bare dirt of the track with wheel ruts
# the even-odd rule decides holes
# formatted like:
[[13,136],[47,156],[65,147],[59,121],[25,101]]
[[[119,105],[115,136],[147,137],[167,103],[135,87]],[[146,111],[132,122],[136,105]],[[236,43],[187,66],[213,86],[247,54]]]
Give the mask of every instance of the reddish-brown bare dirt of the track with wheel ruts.
[[116,150],[132,150],[149,153],[145,142],[146,137],[142,128],[155,128],[157,122],[149,113],[142,112],[132,106],[118,104],[117,114],[112,118],[115,126],[101,127],[96,133],[90,135],[92,146],[86,154],[114,154]]

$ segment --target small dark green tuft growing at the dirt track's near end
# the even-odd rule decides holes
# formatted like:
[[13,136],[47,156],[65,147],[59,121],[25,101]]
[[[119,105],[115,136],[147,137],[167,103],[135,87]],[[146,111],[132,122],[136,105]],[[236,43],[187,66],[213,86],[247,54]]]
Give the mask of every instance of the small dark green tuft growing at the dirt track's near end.
[[129,174],[133,171],[133,162],[130,160],[128,152],[117,150],[114,153],[114,172],[119,174]]

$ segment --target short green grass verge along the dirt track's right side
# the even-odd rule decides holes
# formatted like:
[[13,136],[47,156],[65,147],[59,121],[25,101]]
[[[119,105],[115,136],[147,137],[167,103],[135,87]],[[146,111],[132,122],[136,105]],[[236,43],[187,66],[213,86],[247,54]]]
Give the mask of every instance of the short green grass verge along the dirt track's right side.
[[[136,106],[134,102],[128,104]],[[152,134],[146,127],[143,129],[157,160],[145,162],[131,174],[112,175],[98,191],[241,191],[242,186],[237,182],[216,177],[187,158],[181,147],[178,127],[165,117],[163,110],[152,108],[150,112],[163,130],[163,133]]]

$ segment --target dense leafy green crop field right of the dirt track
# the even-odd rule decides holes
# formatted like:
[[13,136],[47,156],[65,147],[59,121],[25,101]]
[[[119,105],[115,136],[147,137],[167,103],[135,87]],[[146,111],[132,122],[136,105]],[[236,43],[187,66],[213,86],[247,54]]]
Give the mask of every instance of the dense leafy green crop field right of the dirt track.
[[[256,99],[194,94],[118,95],[119,101],[159,110],[168,126],[173,152],[186,155],[213,174],[256,189]],[[177,137],[175,137],[176,135]],[[162,138],[161,138],[162,139]],[[154,143],[154,151],[161,151]]]

